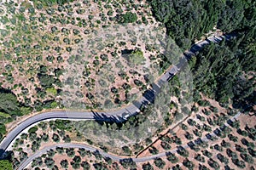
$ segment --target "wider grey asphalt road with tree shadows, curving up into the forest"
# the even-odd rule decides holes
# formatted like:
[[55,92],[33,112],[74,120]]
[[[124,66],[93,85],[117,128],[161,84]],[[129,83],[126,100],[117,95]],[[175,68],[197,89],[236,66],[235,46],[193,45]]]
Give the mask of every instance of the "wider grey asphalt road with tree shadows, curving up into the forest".
[[[225,35],[221,37],[209,37],[205,41],[201,41],[196,43],[195,45],[192,46],[188,51],[183,53],[183,56],[181,56],[179,64],[173,65],[171,68],[169,68],[165,74],[163,74],[157,82],[154,83],[154,86],[152,86],[154,93],[156,93],[157,88],[161,87],[161,84],[163,82],[168,82],[174,75],[177,74],[177,72],[183,68],[183,66],[187,63],[187,59],[189,59],[191,56],[195,55],[198,51],[201,50],[204,46],[209,44],[210,42],[218,43],[223,39],[230,39],[230,35]],[[131,105],[127,105],[125,108],[119,109],[117,111],[108,111],[108,112],[94,112],[94,111],[49,111],[49,112],[44,112],[42,114],[32,116],[24,122],[20,122],[20,124],[15,127],[10,133],[7,134],[7,136],[3,139],[3,141],[0,144],[0,150],[2,150],[2,153],[9,147],[9,144],[12,143],[12,141],[26,129],[26,127],[31,126],[32,124],[36,122],[41,122],[44,120],[49,120],[49,119],[84,119],[84,120],[104,120],[108,121],[109,120],[114,120],[117,122],[122,122],[124,121],[123,114],[124,113],[129,113],[129,116],[137,114],[139,111],[139,108],[141,105],[145,105],[150,103],[150,99],[147,97],[144,97],[143,95],[140,99],[138,99],[136,102],[133,102]],[[162,153],[163,156],[165,156],[165,153]],[[155,155],[155,156],[162,156],[162,155]],[[152,159],[154,159],[155,156],[151,156]],[[148,158],[147,158],[148,159]],[[146,161],[146,158],[137,158],[137,161]]]

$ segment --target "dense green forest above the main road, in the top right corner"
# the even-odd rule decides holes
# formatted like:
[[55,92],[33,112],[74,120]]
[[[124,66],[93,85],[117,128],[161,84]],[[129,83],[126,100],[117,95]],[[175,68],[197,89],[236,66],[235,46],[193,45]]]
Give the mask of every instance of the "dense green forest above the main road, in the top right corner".
[[157,20],[164,23],[177,45],[188,49],[195,38],[216,27],[224,32],[255,27],[255,1],[148,0]]

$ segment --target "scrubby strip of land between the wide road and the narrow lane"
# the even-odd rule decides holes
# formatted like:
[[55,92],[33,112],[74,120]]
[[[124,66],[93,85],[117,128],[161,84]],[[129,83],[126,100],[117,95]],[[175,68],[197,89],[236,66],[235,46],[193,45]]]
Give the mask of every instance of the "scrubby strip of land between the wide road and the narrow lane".
[[[169,106],[158,109],[161,111],[167,109],[168,114],[158,115],[156,107],[148,106],[137,116],[131,116],[121,123],[96,122],[94,120],[50,120],[27,127],[25,132],[21,133],[9,148],[9,150],[14,151],[14,165],[19,166],[20,162],[26,159],[26,156],[32,156],[38,150],[43,150],[52,144],[71,142],[93,145],[99,150],[119,156],[137,156],[148,144],[158,139],[159,133],[168,132],[169,128],[177,126],[190,115],[189,112],[181,113],[182,110],[189,111],[189,109],[181,107],[178,102],[180,98],[177,96],[181,96],[180,93],[183,91],[180,90],[177,79],[174,80],[169,84],[172,84],[172,91],[168,94],[170,95]],[[162,103],[163,101],[156,99],[156,102]],[[161,120],[161,116],[164,116],[165,119]],[[152,130],[148,131],[148,129]]]

